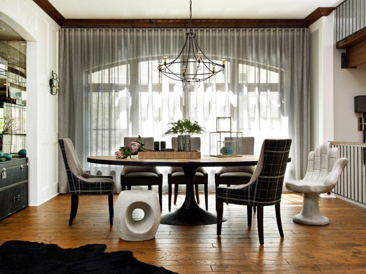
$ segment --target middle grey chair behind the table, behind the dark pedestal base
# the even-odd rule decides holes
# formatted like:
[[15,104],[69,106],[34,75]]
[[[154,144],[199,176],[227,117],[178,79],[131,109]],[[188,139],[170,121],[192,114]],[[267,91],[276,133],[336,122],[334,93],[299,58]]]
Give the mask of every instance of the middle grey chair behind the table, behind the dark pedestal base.
[[[178,150],[178,138],[172,137],[172,148]],[[201,150],[201,138],[191,137],[191,149]],[[171,167],[168,170],[168,208],[171,209],[172,203],[172,184],[174,184],[174,204],[177,203],[179,185],[185,185],[185,176],[181,167]],[[208,210],[208,173],[203,167],[199,167],[194,178],[197,203],[200,203],[200,193],[198,186],[204,187],[204,201],[206,210]]]

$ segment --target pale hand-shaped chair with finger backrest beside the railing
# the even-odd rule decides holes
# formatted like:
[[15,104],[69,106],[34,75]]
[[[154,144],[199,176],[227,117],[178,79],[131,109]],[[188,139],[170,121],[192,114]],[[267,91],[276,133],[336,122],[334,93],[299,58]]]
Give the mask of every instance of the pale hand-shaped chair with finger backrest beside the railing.
[[347,158],[339,158],[338,148],[330,148],[329,142],[309,153],[304,179],[285,182],[286,189],[303,193],[303,208],[293,216],[294,222],[306,225],[329,223],[329,219],[320,214],[318,196],[335,187],[347,164]]

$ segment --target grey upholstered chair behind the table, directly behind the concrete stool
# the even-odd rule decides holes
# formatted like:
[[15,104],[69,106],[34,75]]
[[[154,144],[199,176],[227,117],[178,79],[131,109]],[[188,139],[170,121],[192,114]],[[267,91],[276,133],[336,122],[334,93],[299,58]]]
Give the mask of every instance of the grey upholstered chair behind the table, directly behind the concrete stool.
[[[137,137],[124,137],[124,146],[128,146],[129,142],[136,140]],[[145,148],[154,149],[153,137],[142,137]],[[133,186],[147,186],[151,190],[151,186],[158,186],[160,210],[163,210],[163,174],[155,166],[123,166],[121,172],[121,185],[123,190],[131,190]]]

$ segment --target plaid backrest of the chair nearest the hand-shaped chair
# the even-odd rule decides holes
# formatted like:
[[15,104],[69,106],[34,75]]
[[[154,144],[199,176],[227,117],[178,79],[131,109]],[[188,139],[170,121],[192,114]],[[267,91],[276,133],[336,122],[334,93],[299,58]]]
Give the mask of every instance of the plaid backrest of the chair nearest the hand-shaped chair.
[[291,139],[265,139],[257,167],[249,183],[253,205],[274,205],[281,201]]

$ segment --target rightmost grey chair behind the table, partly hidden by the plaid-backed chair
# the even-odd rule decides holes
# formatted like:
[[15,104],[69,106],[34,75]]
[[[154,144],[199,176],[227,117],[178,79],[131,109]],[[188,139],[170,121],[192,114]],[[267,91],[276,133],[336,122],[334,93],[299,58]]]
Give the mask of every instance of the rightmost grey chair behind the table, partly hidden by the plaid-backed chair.
[[[254,137],[242,137],[242,154],[254,155]],[[222,167],[215,173],[216,189],[220,185],[243,185],[250,181],[255,166]],[[253,207],[255,212],[256,208]]]

